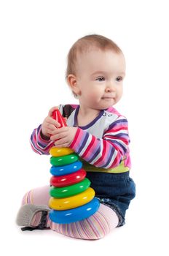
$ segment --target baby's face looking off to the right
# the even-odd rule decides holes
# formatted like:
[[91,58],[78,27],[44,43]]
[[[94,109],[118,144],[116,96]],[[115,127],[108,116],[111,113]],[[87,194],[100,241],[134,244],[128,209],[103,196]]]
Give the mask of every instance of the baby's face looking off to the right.
[[97,110],[116,104],[122,97],[125,58],[112,50],[93,49],[79,54],[76,86],[81,105]]

